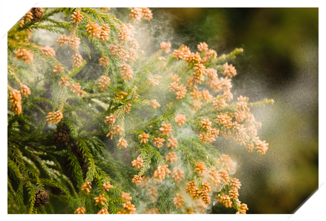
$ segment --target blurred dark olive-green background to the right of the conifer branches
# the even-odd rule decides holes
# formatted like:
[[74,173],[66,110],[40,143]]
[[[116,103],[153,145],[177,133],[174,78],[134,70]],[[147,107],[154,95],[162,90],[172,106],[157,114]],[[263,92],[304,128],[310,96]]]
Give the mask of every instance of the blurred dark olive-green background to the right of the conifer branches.
[[[230,142],[221,152],[237,162],[233,176],[242,183],[239,200],[248,205],[247,214],[293,214],[325,180],[319,178],[319,8],[151,10],[152,22],[164,27],[152,27],[157,38],[144,46],[170,40],[172,48],[185,44],[193,51],[206,42],[218,55],[244,49],[232,62],[232,91],[250,102],[274,99],[251,109],[269,149],[261,156]],[[212,212],[230,210],[215,205]]]

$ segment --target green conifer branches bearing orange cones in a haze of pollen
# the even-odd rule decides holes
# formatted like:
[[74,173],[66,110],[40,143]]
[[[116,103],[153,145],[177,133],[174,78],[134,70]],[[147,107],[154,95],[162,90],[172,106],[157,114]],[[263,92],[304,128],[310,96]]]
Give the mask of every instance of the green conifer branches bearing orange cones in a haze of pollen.
[[[60,13],[64,16],[61,20],[54,18]],[[81,22],[73,20],[72,15],[78,14]],[[208,91],[210,96],[205,94],[210,86],[201,81],[209,81],[210,76],[196,68],[201,64],[200,57],[207,59],[208,51],[194,54],[181,46],[173,53],[160,49],[142,55],[132,27],[125,29],[113,14],[98,8],[45,8],[39,21],[22,20],[23,25],[18,22],[8,32],[7,44],[8,214],[77,213],[81,208],[87,214],[102,209],[110,214],[202,212],[189,196],[184,196],[185,206],[176,209],[175,197],[177,193],[187,194],[185,186],[190,181],[196,181],[198,193],[204,192],[202,182],[219,182],[216,175],[207,176],[213,168],[227,170],[221,164],[225,155],[218,150],[219,140],[239,141],[240,134],[247,137],[240,145],[259,143],[254,132],[246,135],[251,132],[249,126],[256,125],[246,108],[272,100],[248,103],[248,98],[236,102],[230,99],[217,110],[215,102],[230,89],[223,79],[227,81],[230,76],[215,79],[222,86],[211,92],[214,99]],[[104,25],[110,31],[105,31]],[[31,42],[30,31],[39,29],[55,33],[58,45],[69,45],[70,49],[65,50],[82,56],[82,60],[72,58],[72,65],[67,65],[50,53],[53,48]],[[20,54],[20,49],[25,51]],[[175,56],[177,52],[184,57]],[[205,62],[206,69],[215,68],[219,75],[225,75],[227,68],[222,62],[231,61],[241,52],[235,49],[220,57],[214,52]],[[94,63],[94,57],[100,59]],[[123,65],[131,72],[125,73]],[[94,71],[86,71],[89,68]],[[172,82],[178,86],[173,88]],[[196,91],[201,95],[194,98],[191,92]],[[195,101],[200,105],[196,106]],[[236,122],[237,111],[250,122]],[[183,124],[178,123],[177,114],[186,116]],[[230,125],[214,120],[223,114],[233,123],[230,131],[234,134],[228,133]],[[110,122],[109,116],[114,121]],[[221,133],[218,137],[218,131],[214,134],[211,126],[203,126],[204,119],[213,121],[212,127]],[[168,129],[164,125],[171,131],[165,131]],[[148,134],[146,142],[140,140],[141,134]],[[155,143],[157,138],[164,139],[161,146]],[[266,149],[261,148],[256,146],[264,154]],[[177,156],[176,162],[168,158],[170,153]],[[136,159],[142,160],[139,168],[132,165]],[[206,166],[205,176],[196,172],[200,162]],[[159,172],[162,168],[165,172]],[[174,169],[183,171],[182,179],[175,178]],[[137,176],[142,178],[140,184],[135,181]],[[228,182],[212,192],[227,194],[231,189]],[[108,184],[111,186],[105,189]],[[38,196],[37,190],[47,190],[49,197]],[[122,192],[132,199],[124,199]],[[65,204],[64,209],[56,206],[58,201]],[[240,201],[232,200],[232,204],[237,211],[245,212]]]

